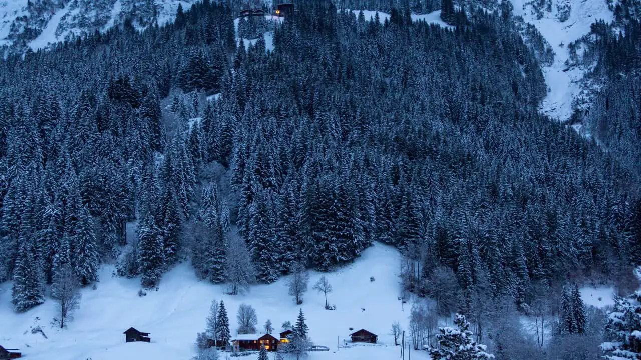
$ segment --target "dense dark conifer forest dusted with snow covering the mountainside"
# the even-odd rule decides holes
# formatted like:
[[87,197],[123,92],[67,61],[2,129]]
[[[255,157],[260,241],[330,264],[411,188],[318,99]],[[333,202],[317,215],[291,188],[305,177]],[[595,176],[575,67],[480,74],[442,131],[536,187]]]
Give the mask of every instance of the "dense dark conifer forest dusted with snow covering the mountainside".
[[204,0],[167,26],[0,61],[0,282],[16,311],[63,275],[99,281],[103,263],[155,288],[190,261],[238,293],[373,241],[403,254],[404,290],[454,282],[438,311],[477,336],[492,300],[533,314],[566,282],[629,290],[638,22],[594,49],[613,79],[576,115],[598,124],[594,141],[539,113],[539,56],[511,5],[453,10],[452,28],[410,18],[440,3],[383,22],[297,6],[273,50],[237,44],[235,12]]

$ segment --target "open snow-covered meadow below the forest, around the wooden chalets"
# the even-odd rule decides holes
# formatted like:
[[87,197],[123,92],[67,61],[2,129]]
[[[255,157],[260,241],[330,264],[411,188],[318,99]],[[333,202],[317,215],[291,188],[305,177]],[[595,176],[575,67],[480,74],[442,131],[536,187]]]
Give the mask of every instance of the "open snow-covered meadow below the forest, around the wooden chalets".
[[[196,333],[204,331],[210,302],[224,300],[228,309],[232,334],[235,334],[236,313],[242,303],[256,309],[259,327],[267,319],[279,332],[281,323],[295,322],[302,308],[316,345],[329,352],[310,353],[310,359],[394,359],[400,349],[388,334],[394,321],[408,329],[408,304],[401,312],[399,302],[399,259],[397,250],[376,244],[365,250],[360,259],[337,272],[325,274],[333,293],[329,304],[335,311],[324,309],[324,297],[312,290],[322,274],[312,272],[310,291],[304,304],[296,306],[287,295],[286,279],[256,285],[246,295],[225,295],[226,287],[201,282],[188,264],[178,265],[165,274],[158,291],[138,297],[139,279],[112,277],[113,267],[104,266],[97,290],[82,291],[81,306],[67,329],[51,324],[56,316],[55,304],[47,300],[28,313],[14,313],[10,306],[11,284],[0,284],[0,344],[10,343],[21,348],[31,360],[156,360],[190,359],[196,354]],[[370,277],[375,281],[371,282]],[[31,330],[40,326],[42,334]],[[124,343],[122,332],[129,327],[151,333],[151,343]],[[379,345],[354,345],[340,348],[354,331],[367,329],[378,334]],[[428,359],[426,352],[413,352],[415,359]],[[254,359],[256,356],[244,357]]]

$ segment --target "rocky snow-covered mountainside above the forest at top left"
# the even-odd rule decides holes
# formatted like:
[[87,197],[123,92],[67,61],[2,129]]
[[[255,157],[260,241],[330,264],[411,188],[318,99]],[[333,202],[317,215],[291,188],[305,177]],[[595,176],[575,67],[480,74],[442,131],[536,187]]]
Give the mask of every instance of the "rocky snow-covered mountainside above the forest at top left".
[[196,0],[0,0],[0,45],[22,51],[103,31],[126,18],[138,27],[174,19]]

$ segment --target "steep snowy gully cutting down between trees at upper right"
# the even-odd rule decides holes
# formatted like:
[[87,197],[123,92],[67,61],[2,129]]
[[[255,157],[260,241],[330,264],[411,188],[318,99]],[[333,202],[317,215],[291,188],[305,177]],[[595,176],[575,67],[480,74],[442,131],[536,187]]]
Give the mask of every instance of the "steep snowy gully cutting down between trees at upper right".
[[[601,19],[613,20],[606,0],[546,0],[542,3],[512,0],[514,14],[533,24],[552,46],[554,63],[544,67],[545,83],[549,91],[542,104],[542,111],[565,121],[572,115],[572,103],[581,92],[581,80],[590,70],[569,66],[567,45],[590,32],[590,25]],[[579,54],[580,55],[580,54]]]

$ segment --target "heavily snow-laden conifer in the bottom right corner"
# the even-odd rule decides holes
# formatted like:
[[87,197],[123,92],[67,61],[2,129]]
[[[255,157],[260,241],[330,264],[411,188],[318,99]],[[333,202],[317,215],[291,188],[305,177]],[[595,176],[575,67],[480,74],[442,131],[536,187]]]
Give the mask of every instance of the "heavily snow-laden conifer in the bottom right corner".
[[605,325],[607,342],[601,344],[607,360],[641,359],[641,291],[615,297]]

